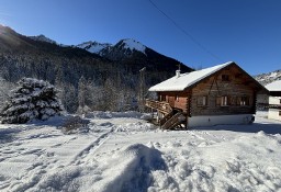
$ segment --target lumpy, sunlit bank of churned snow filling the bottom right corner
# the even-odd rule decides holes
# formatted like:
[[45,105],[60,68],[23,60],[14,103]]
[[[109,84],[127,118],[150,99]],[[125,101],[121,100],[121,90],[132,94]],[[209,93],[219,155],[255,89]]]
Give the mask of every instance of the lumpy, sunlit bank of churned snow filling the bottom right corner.
[[154,171],[148,191],[278,191],[280,139],[259,132],[231,142],[157,144],[170,148],[164,153],[169,171]]

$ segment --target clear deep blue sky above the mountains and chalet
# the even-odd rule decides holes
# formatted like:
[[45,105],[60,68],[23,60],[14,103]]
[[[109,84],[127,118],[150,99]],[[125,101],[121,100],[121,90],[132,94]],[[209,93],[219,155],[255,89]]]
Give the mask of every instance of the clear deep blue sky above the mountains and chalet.
[[194,68],[281,69],[280,0],[151,1],[180,29],[149,0],[0,0],[0,23],[68,45],[134,38]]

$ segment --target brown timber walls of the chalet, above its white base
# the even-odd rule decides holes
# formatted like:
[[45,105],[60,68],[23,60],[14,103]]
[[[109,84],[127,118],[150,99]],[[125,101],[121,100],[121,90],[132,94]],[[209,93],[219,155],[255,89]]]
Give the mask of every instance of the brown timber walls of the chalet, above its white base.
[[157,93],[158,101],[182,112],[188,125],[192,116],[255,114],[260,89],[265,88],[233,63],[182,91]]

